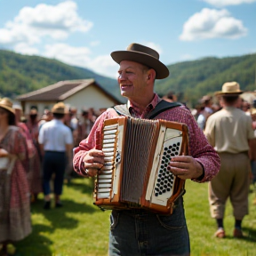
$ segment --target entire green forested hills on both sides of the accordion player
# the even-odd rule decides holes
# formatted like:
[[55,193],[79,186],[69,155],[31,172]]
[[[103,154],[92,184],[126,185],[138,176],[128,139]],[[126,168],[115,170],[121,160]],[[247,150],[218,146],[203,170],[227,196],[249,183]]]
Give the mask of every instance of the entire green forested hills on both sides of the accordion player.
[[[194,105],[205,94],[220,91],[227,81],[237,81],[242,90],[256,90],[256,53],[239,57],[204,58],[168,66],[170,76],[156,80],[156,92],[175,92],[178,100]],[[21,55],[0,50],[0,96],[31,92],[63,80],[94,78],[119,99],[116,79],[95,74],[86,68],[68,66],[59,60]]]

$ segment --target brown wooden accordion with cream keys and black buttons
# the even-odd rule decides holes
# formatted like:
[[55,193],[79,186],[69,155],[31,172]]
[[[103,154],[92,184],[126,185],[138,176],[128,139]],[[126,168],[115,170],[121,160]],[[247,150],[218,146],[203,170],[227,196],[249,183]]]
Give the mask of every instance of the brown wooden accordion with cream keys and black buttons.
[[172,156],[188,155],[186,124],[119,116],[96,134],[104,152],[93,204],[102,210],[148,209],[172,214],[185,180],[168,170]]

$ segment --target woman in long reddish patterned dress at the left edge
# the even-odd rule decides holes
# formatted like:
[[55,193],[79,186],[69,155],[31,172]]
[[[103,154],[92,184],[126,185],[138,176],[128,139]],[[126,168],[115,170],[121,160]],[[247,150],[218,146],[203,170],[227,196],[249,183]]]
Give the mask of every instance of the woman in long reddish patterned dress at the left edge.
[[[7,245],[31,231],[26,138],[15,124],[15,111],[8,98],[0,100],[0,255]],[[1,248],[1,247],[0,247]]]

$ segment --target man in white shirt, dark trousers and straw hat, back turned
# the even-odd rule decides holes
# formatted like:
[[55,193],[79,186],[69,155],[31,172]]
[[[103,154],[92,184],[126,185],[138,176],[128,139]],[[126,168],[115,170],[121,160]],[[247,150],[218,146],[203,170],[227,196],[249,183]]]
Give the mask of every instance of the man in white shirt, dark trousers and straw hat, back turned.
[[54,203],[61,207],[60,196],[64,181],[66,164],[72,163],[73,136],[64,123],[66,106],[63,102],[56,103],[52,108],[53,119],[45,123],[39,131],[39,145],[43,156],[43,188],[44,209],[51,208],[50,181],[54,177]]

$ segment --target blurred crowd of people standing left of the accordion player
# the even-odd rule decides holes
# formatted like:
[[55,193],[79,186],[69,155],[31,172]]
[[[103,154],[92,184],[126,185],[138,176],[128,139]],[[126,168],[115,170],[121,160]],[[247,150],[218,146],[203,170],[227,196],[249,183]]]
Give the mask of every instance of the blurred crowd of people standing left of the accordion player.
[[0,255],[31,233],[30,206],[38,194],[44,194],[45,210],[62,207],[73,148],[86,138],[97,115],[93,108],[78,115],[76,108],[59,102],[42,116],[35,107],[25,116],[19,104],[0,100]]

